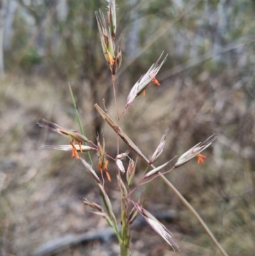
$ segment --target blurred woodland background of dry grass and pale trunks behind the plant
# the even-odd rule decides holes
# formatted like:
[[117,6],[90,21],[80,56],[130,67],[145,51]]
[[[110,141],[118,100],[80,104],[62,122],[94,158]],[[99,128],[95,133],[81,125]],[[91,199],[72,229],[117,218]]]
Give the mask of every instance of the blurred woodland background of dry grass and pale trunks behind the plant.
[[[157,80],[122,116],[122,130],[150,158],[166,127],[170,132],[161,165],[213,133],[203,154],[166,175],[198,211],[226,252],[255,253],[254,64],[255,1],[129,0],[117,3],[119,110],[135,82],[168,54]],[[94,11],[99,0],[0,1],[0,255],[32,255],[48,241],[107,226],[84,206],[82,197],[101,204],[93,179],[71,153],[41,148],[68,144],[36,124],[45,118],[78,129],[68,91],[70,82],[85,135],[104,135],[115,157],[116,135],[94,110],[103,99],[116,118],[110,70],[99,43]],[[128,147],[120,142],[120,151]],[[135,158],[135,153],[130,156]],[[87,156],[85,155],[85,158]],[[92,155],[94,168],[97,156]],[[128,160],[124,163],[128,164]],[[138,160],[136,181],[146,165]],[[115,165],[106,182],[113,209],[120,209]],[[165,169],[167,170],[167,169]],[[125,179],[125,177],[123,176]],[[220,255],[200,224],[160,179],[143,186],[144,207],[173,211],[171,222],[181,252],[144,225],[133,230],[133,255]],[[118,215],[119,216],[119,215]],[[55,255],[118,255],[115,238],[66,246]],[[49,255],[52,255],[50,253]]]

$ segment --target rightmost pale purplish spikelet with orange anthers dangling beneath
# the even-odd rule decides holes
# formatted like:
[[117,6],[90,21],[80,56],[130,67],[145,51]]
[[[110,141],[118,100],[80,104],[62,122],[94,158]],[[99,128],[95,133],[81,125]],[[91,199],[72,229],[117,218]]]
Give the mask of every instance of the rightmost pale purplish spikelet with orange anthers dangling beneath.
[[[198,156],[198,154],[201,153],[201,151],[205,150],[208,146],[210,146],[210,144],[212,144],[212,142],[216,139],[217,137],[214,135],[208,137],[207,140],[200,142],[198,144],[196,144],[194,147],[192,147],[191,149],[189,149],[186,153],[182,154],[179,159],[177,160],[177,163],[175,163],[174,167],[180,167],[181,165],[184,165],[184,163],[189,162],[189,160],[191,160],[192,158],[194,158],[195,156]],[[205,158],[204,156],[198,156],[199,160],[201,163],[203,163],[203,158]]]

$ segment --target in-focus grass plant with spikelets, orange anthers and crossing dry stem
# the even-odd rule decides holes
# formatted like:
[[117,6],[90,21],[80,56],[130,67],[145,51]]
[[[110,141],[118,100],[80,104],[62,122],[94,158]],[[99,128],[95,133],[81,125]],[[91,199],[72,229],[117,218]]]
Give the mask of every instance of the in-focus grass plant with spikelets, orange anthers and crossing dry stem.
[[[156,160],[161,156],[163,153],[164,145],[166,142],[166,135],[168,133],[168,128],[166,128],[166,132],[164,133],[163,137],[161,138],[159,145],[157,146],[156,150],[152,154],[152,157],[148,159],[136,146],[136,144],[129,139],[128,135],[122,131],[120,128],[120,124],[122,119],[125,117],[126,111],[128,111],[129,107],[132,105],[132,103],[140,96],[141,94],[145,94],[145,89],[150,84],[154,84],[156,86],[160,86],[159,82],[156,79],[156,75],[159,72],[161,66],[163,66],[164,61],[166,60],[166,57],[164,57],[163,61],[161,60],[161,56],[159,59],[157,59],[156,63],[152,64],[144,75],[140,77],[140,79],[136,82],[136,84],[133,86],[131,91],[128,94],[126,106],[124,107],[124,110],[119,110],[119,103],[118,103],[118,97],[115,90],[115,75],[118,72],[120,65],[122,63],[122,49],[121,45],[119,43],[119,46],[115,47],[115,37],[116,37],[116,31],[117,31],[117,23],[116,23],[116,6],[115,6],[115,0],[109,0],[108,1],[108,20],[105,20],[105,17],[101,11],[96,12],[96,19],[98,21],[98,28],[99,28],[99,36],[101,40],[101,46],[103,48],[103,54],[105,56],[106,62],[110,68],[110,72],[112,75],[112,88],[113,88],[113,96],[115,100],[115,110],[117,114],[117,121],[114,121],[105,111],[103,111],[98,104],[95,105],[96,110],[98,111],[99,115],[105,119],[106,123],[109,124],[109,126],[117,133],[117,154],[116,156],[110,156],[106,149],[105,149],[105,139],[103,135],[101,137],[97,136],[97,144],[94,144],[91,139],[87,139],[85,137],[85,133],[82,129],[82,121],[80,120],[80,116],[78,114],[77,106],[75,103],[75,97],[73,96],[73,92],[71,91],[71,86],[69,85],[69,91],[71,94],[71,98],[73,101],[73,105],[75,107],[75,112],[78,120],[78,125],[80,127],[80,133],[73,130],[68,130],[66,128],[62,128],[61,126],[54,124],[52,122],[43,121],[43,123],[39,123],[40,126],[49,128],[50,130],[53,130],[54,132],[60,133],[61,135],[65,135],[69,137],[69,145],[57,145],[57,146],[45,146],[45,147],[51,147],[54,149],[61,149],[66,151],[72,151],[72,157],[76,157],[77,159],[81,160],[81,162],[84,164],[85,169],[91,174],[91,176],[94,178],[94,181],[96,183],[96,186],[98,186],[99,193],[101,195],[101,198],[103,199],[103,206],[99,206],[95,202],[91,202],[88,199],[84,199],[84,203],[92,208],[92,211],[95,215],[99,215],[106,219],[108,222],[108,225],[113,228],[115,231],[115,235],[117,237],[117,240],[120,245],[120,255],[121,256],[127,256],[131,255],[131,230],[130,225],[135,220],[136,216],[138,214],[142,215],[145,221],[152,227],[153,230],[159,236],[161,236],[166,243],[168,243],[173,250],[180,250],[179,246],[175,241],[173,240],[173,236],[163,223],[159,222],[147,209],[145,209],[142,205],[142,198],[138,200],[133,199],[133,193],[137,188],[140,186],[143,186],[144,184],[152,182],[157,177],[161,177],[163,179],[164,183],[172,190],[177,197],[182,201],[184,206],[186,206],[189,211],[191,211],[192,215],[196,217],[198,222],[203,226],[203,229],[205,229],[205,232],[207,232],[208,236],[210,236],[210,239],[214,242],[214,245],[219,249],[219,251],[222,253],[222,255],[227,256],[228,254],[224,251],[222,246],[219,244],[217,239],[215,239],[214,235],[208,229],[207,225],[203,220],[201,219],[200,215],[194,210],[194,208],[187,202],[186,199],[179,193],[179,191],[173,186],[173,184],[166,179],[164,176],[165,174],[168,174],[169,172],[174,171],[175,169],[181,167],[182,165],[188,163],[191,159],[198,157],[198,163],[203,163],[206,156],[201,154],[201,151],[207,149],[208,146],[212,144],[212,142],[216,139],[215,135],[212,135],[208,137],[208,139],[204,140],[203,142],[199,142],[194,147],[186,151],[186,153],[182,154],[177,160],[176,158],[172,158],[171,160],[168,160],[168,162],[164,163],[163,165],[160,165],[156,167],[154,163]],[[122,139],[129,148],[137,154],[139,158],[141,158],[143,161],[147,163],[147,168],[144,170],[142,176],[140,176],[140,179],[138,183],[134,182],[134,176],[136,172],[136,162],[137,160],[129,158],[129,151],[126,151],[126,153],[120,153],[119,152],[119,140]],[[78,143],[78,145],[75,144],[75,142]],[[84,143],[84,145],[82,145]],[[90,146],[87,146],[89,144]],[[83,153],[84,151],[87,151],[87,158],[88,161],[85,160],[83,156],[79,153]],[[89,153],[89,151],[96,152],[98,154],[98,165],[92,165],[92,158]],[[126,170],[124,168],[124,165],[122,163],[122,160],[124,158],[129,158],[129,165],[128,169]],[[176,162],[174,162],[174,160]],[[108,172],[108,162],[112,161],[115,162],[115,174],[110,174]],[[166,165],[174,163],[170,169],[167,171],[161,172]],[[94,166],[94,167],[93,167]],[[97,168],[95,168],[97,167]],[[98,172],[96,169],[99,170],[100,176],[98,176]],[[124,175],[126,174],[126,175]],[[108,179],[108,181],[105,181],[105,175]],[[108,193],[105,188],[106,182],[112,181],[112,175],[116,176],[117,184],[119,186],[119,192],[120,192],[120,220],[121,220],[121,229],[119,230],[119,223],[117,220],[119,218],[115,216],[115,213],[113,213],[112,209],[112,202],[110,200],[110,197],[108,196]],[[126,179],[126,180],[125,180]]]

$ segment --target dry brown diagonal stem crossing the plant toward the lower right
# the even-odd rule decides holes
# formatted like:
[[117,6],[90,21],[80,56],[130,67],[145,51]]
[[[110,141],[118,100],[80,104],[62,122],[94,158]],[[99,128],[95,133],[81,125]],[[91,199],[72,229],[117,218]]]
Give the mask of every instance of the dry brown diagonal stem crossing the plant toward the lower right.
[[[135,145],[135,143],[131,139],[129,139],[128,135],[126,135],[126,133],[124,133],[121,130],[121,128],[118,127],[118,125],[115,123],[115,121],[113,121],[107,114],[105,114],[105,112],[98,106],[98,104],[94,105],[94,107],[98,111],[98,113],[103,117],[103,119],[105,119],[106,123],[108,123],[115,132],[117,132],[119,130],[120,138],[126,144],[128,144],[128,146],[131,147],[131,149],[133,149],[133,151],[135,151],[135,153],[138,154],[138,156],[140,156],[140,158],[145,160],[145,162],[149,163],[149,160],[146,158],[146,156],[143,155],[142,151],[140,151],[140,149]],[[151,165],[151,167],[154,169],[156,168],[156,167],[154,167],[154,165]],[[214,234],[212,234],[210,229],[207,227],[207,224],[202,220],[200,215],[198,215],[198,213],[193,208],[193,206],[191,206],[191,204],[189,204],[189,202],[187,202],[187,200],[182,196],[182,194],[177,190],[177,188],[175,188],[175,186],[173,186],[173,184],[171,184],[170,181],[168,181],[168,179],[166,179],[166,177],[164,177],[164,175],[161,174],[161,172],[159,172],[159,175],[160,175],[161,179],[163,179],[164,183],[166,183],[166,185],[169,188],[171,188],[171,190],[173,190],[175,195],[177,195],[177,197],[179,197],[179,199],[182,201],[184,206],[186,206],[189,209],[189,211],[191,211],[191,213],[194,215],[194,217],[198,220],[198,222],[200,222],[203,229],[205,229],[205,232],[207,232],[208,236],[210,237],[210,239],[212,239],[214,244],[221,251],[222,255],[228,256],[228,253],[226,253],[224,248],[222,248],[221,244],[217,241]]]

